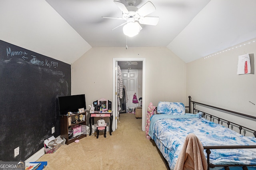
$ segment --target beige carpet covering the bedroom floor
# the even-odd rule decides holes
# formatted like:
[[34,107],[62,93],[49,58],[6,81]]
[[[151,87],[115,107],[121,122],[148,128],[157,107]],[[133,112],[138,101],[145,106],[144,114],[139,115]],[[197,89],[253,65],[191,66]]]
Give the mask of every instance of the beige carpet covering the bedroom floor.
[[166,170],[154,142],[145,137],[142,119],[134,114],[120,114],[116,131],[96,132],[78,143],[61,146],[53,154],[44,154],[38,161],[47,161],[44,170]]

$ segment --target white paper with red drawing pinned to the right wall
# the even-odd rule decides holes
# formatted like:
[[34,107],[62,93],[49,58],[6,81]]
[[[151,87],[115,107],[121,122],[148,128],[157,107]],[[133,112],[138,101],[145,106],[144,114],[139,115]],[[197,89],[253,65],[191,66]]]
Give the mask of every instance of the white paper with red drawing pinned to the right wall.
[[237,65],[237,74],[250,74],[251,65],[250,65],[250,56],[249,54],[244,54],[238,56],[238,65]]

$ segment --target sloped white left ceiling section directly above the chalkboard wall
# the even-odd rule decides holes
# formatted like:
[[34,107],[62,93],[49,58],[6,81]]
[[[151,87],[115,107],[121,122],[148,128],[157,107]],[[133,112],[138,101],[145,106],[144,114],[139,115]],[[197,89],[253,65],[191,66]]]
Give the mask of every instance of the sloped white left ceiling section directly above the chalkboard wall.
[[46,0],[1,0],[0,11],[2,41],[68,64],[92,48]]

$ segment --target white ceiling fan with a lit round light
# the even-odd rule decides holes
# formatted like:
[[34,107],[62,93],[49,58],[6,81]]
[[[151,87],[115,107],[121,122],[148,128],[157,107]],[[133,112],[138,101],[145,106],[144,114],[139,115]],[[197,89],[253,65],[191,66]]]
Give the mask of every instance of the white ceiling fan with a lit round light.
[[112,30],[124,25],[123,27],[124,34],[132,37],[137,35],[140,32],[140,30],[142,30],[142,27],[140,26],[140,24],[154,25],[154,26],[158,24],[159,17],[147,16],[148,14],[151,14],[156,10],[156,7],[150,1],[146,2],[140,8],[137,8],[134,6],[134,4],[136,3],[136,0],[126,0],[126,4],[129,5],[127,7],[122,2],[119,2],[116,0],[114,0],[114,3],[122,11],[122,18],[111,18],[111,17],[102,17],[102,18],[126,20],[126,22],[113,28]]

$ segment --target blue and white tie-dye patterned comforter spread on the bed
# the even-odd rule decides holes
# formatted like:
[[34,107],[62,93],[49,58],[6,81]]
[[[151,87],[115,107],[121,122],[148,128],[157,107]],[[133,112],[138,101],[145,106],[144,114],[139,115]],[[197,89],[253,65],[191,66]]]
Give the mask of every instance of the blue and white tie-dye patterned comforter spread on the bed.
[[[156,114],[150,118],[149,135],[173,170],[186,136],[195,134],[203,146],[256,145],[256,138],[246,137],[198,114]],[[207,156],[207,154],[205,153]],[[256,149],[211,150],[212,164],[256,164]],[[220,169],[220,168],[214,168]],[[256,169],[256,168],[249,168]]]

